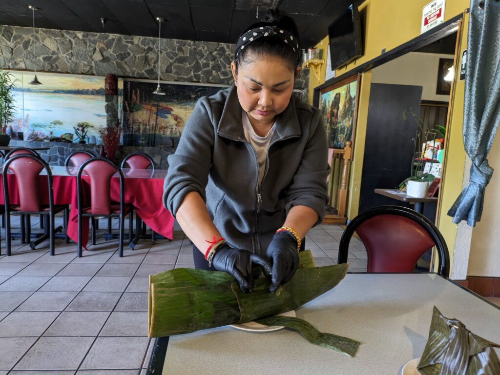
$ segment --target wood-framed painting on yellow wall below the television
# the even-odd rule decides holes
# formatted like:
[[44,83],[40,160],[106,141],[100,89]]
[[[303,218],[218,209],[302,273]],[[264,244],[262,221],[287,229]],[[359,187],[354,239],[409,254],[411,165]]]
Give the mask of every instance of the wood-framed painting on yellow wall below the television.
[[360,75],[353,75],[319,91],[319,109],[326,128],[329,148],[354,146]]

